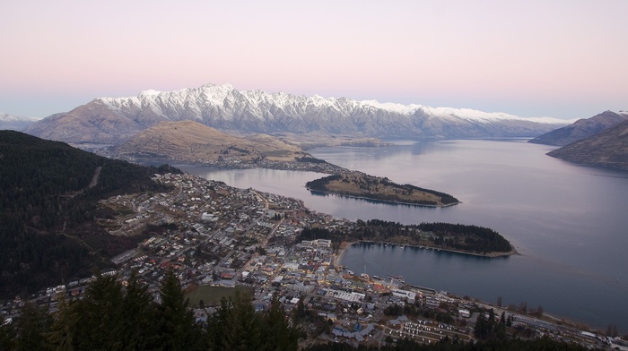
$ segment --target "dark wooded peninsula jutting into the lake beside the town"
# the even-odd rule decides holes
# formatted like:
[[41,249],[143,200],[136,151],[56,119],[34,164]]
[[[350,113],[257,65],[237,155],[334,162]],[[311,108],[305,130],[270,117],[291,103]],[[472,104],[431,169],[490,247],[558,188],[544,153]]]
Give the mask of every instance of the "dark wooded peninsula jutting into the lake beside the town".
[[442,248],[466,253],[510,253],[508,240],[493,229],[451,223],[421,223],[402,225],[398,222],[371,219],[357,221],[351,231],[330,231],[321,228],[307,228],[297,238],[301,240],[331,239],[340,244],[343,241],[379,241],[397,244],[415,244]]

